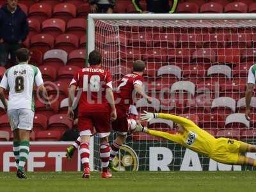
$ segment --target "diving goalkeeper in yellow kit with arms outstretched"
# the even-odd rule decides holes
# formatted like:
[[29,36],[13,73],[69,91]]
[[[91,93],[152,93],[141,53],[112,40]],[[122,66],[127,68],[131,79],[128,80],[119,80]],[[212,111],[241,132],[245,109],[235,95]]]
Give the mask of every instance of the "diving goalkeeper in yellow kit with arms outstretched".
[[154,131],[147,127],[143,127],[141,124],[137,125],[135,131],[146,132],[152,136],[179,143],[186,148],[210,157],[214,161],[220,163],[256,166],[256,159],[241,155],[245,152],[256,152],[255,145],[228,138],[216,139],[208,132],[200,129],[191,120],[181,116],[164,113],[148,113],[147,111],[144,111],[144,114],[141,114],[141,120],[150,121],[152,118],[172,120],[177,124],[177,127],[179,127],[177,134]]

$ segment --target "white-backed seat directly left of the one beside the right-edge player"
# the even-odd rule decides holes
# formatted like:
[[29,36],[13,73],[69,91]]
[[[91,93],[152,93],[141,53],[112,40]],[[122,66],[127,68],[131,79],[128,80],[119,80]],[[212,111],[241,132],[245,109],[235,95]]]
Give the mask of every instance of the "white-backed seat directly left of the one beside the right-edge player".
[[212,100],[211,112],[219,115],[229,115],[236,111],[236,100],[230,97],[218,97]]

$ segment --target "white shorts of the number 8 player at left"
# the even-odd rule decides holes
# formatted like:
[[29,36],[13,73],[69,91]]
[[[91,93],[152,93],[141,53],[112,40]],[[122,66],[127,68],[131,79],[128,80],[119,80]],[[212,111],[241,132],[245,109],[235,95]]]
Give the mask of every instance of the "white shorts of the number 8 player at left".
[[12,131],[15,129],[31,130],[34,121],[34,111],[31,109],[8,110]]

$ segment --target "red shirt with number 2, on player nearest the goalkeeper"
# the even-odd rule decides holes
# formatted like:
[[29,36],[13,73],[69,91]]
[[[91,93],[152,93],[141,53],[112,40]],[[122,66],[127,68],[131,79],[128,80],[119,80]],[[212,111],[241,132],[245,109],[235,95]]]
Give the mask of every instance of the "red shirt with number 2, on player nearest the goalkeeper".
[[134,100],[132,97],[135,97],[134,85],[143,84],[143,77],[138,74],[127,74],[122,77],[118,82],[118,87],[115,92],[115,101],[117,106],[122,106],[125,110],[129,110],[130,104],[133,104]]

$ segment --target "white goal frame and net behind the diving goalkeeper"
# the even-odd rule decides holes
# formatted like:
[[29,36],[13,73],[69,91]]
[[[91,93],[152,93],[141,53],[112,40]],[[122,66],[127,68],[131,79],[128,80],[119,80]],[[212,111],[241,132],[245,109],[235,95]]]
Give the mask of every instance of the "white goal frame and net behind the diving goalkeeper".
[[[115,84],[132,72],[133,61],[145,61],[145,90],[155,100],[137,100],[139,113],[186,116],[217,138],[254,143],[253,115],[250,124],[244,117],[244,97],[248,69],[256,58],[255,15],[209,15],[89,15],[88,51],[102,52]],[[255,104],[253,97],[252,107]],[[148,127],[177,131],[166,120],[151,121]],[[97,141],[95,169],[100,168]],[[129,134],[115,164],[120,170],[252,170],[216,163],[143,133]]]

